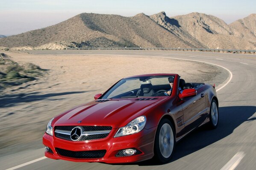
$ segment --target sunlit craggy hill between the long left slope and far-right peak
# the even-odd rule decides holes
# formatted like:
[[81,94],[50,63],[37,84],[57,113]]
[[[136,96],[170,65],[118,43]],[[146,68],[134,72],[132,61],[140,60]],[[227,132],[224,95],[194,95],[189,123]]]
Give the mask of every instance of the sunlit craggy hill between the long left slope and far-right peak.
[[242,39],[241,32],[212,15],[191,13],[173,17],[185,31],[208,48],[253,49],[255,43]]

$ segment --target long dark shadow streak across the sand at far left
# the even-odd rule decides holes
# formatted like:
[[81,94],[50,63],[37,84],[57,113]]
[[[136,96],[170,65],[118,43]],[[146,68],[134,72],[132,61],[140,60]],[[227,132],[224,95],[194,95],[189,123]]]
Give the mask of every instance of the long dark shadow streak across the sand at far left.
[[21,102],[34,102],[40,100],[58,100],[58,99],[50,99],[55,96],[64,96],[68,94],[80,94],[88,91],[71,91],[64,93],[49,93],[49,94],[41,94],[39,92],[33,93],[19,93],[19,94],[7,94],[0,98],[0,108],[12,107],[18,105]]

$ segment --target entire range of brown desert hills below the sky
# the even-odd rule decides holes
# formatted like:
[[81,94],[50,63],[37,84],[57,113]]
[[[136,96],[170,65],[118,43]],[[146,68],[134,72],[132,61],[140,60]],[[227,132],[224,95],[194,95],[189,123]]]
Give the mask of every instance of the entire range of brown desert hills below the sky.
[[165,12],[134,17],[82,13],[42,29],[0,39],[15,49],[68,47],[163,47],[254,49],[256,14],[227,25],[212,15],[191,13],[167,17]]

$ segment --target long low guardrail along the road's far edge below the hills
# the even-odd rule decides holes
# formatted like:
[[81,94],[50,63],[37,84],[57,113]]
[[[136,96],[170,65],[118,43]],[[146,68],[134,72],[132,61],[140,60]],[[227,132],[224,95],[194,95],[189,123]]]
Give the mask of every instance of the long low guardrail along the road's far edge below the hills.
[[218,53],[256,54],[256,50],[226,50],[205,48],[66,48],[67,50],[164,50],[164,51],[201,51]]

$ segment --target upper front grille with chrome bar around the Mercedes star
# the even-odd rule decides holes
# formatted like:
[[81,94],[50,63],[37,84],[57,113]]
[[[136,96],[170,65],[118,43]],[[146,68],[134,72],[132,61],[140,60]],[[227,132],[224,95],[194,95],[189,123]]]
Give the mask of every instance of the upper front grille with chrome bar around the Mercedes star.
[[[54,127],[55,128],[54,135],[56,138],[72,141],[70,137],[70,133],[71,133],[71,130],[74,129],[74,127],[77,127],[77,126],[56,126]],[[100,133],[100,131],[112,130],[111,126],[82,126],[82,127],[84,128],[84,132],[88,132],[88,134],[82,135],[78,141],[103,139],[109,135],[109,132]],[[57,130],[65,130],[69,134],[63,134],[62,132],[58,132]],[[93,131],[92,133],[94,132],[97,133],[97,131],[99,131],[99,134],[89,134],[90,131]]]

